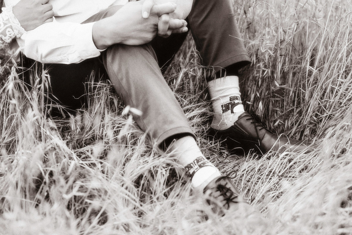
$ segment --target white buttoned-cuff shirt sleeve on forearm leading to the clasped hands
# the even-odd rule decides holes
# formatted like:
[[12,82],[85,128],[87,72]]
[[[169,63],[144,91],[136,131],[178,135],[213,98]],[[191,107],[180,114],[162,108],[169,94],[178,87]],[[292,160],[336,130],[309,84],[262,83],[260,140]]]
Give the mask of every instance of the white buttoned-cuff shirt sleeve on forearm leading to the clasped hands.
[[17,42],[26,57],[42,63],[79,63],[100,55],[92,38],[93,23],[45,23]]

